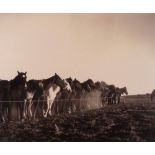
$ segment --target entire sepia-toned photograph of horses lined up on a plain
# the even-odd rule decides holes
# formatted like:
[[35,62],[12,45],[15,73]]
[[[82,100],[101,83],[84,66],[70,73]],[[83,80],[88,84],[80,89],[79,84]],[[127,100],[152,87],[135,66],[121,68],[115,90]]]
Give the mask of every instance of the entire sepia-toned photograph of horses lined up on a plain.
[[154,142],[155,14],[1,13],[0,142]]

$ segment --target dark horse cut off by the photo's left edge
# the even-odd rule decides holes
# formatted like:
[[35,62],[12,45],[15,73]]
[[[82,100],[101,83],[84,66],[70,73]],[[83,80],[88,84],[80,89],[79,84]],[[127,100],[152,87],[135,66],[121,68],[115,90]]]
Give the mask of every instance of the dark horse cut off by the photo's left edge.
[[[0,80],[0,117],[3,122],[8,116],[8,102],[9,102],[10,83],[8,80]],[[5,119],[6,118],[6,119]]]

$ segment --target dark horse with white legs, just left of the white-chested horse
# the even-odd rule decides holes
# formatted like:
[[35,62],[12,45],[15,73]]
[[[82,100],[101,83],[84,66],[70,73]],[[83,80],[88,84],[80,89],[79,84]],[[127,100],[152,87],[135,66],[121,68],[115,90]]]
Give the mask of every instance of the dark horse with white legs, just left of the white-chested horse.
[[[27,82],[27,91],[26,91],[26,116],[29,118],[35,118],[36,111],[39,105],[39,100],[43,95],[43,83],[42,80],[29,80]],[[34,104],[34,100],[37,100],[37,104]],[[32,114],[32,105],[34,105],[34,112]]]

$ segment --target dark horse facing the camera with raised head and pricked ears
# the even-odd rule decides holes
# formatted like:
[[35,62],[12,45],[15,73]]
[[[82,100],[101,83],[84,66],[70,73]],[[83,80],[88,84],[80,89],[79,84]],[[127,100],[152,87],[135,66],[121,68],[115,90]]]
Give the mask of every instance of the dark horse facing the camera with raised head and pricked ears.
[[27,72],[19,72],[17,71],[18,75],[10,81],[10,90],[9,90],[9,99],[10,102],[8,105],[8,115],[9,120],[11,109],[14,103],[17,105],[17,111],[19,110],[20,114],[18,115],[19,120],[25,119],[25,98],[26,98],[26,89],[27,89]]

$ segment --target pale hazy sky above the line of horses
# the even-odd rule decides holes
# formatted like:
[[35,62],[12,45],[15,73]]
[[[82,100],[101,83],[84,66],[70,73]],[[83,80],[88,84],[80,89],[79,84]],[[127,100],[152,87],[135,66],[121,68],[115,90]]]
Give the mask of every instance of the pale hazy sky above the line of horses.
[[155,88],[155,14],[0,14],[0,78],[92,78]]

